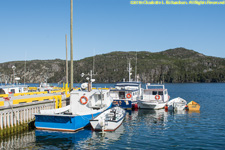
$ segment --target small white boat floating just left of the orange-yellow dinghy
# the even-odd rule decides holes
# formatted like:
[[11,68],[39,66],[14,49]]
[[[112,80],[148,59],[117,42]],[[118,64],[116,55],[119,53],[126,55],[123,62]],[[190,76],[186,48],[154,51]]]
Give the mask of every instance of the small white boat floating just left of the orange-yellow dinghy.
[[187,107],[187,101],[183,98],[177,97],[174,99],[171,99],[168,103],[168,110],[184,110]]

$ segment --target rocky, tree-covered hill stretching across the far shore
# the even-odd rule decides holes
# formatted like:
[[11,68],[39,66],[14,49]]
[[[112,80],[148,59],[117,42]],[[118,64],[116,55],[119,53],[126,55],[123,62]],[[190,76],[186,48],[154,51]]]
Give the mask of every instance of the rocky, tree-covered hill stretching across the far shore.
[[[132,78],[135,75],[137,56],[137,74],[142,82],[225,82],[225,59],[210,57],[185,48],[169,49],[162,52],[111,52],[94,57],[94,76],[97,83],[112,83],[128,80],[128,61],[132,66]],[[21,82],[40,83],[44,77],[48,82],[65,82],[65,60],[32,60],[6,62],[0,64],[2,81],[8,76],[11,80],[16,66],[16,76]],[[70,66],[70,62],[69,62]],[[74,61],[74,82],[83,82],[80,74],[93,69],[93,57]],[[3,75],[4,74],[4,75]],[[7,75],[7,76],[6,76]],[[70,75],[70,73],[69,73]],[[70,79],[70,78],[69,78]]]

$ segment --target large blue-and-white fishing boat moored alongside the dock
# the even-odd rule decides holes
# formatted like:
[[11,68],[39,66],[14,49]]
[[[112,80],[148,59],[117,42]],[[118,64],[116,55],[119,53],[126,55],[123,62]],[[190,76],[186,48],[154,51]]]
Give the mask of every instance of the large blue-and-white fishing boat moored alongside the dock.
[[[88,87],[86,87],[88,85]],[[70,105],[42,110],[35,114],[35,126],[42,130],[77,131],[89,125],[91,119],[112,106],[109,90],[91,90],[83,84],[70,93]]]

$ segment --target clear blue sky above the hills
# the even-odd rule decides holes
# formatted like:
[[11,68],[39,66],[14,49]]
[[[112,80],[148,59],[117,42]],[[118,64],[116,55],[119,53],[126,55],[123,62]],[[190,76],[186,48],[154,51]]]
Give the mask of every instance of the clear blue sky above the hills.
[[[225,58],[225,5],[73,1],[73,59],[184,47]],[[0,0],[0,63],[66,59],[70,0]],[[70,59],[70,55],[68,56]]]

